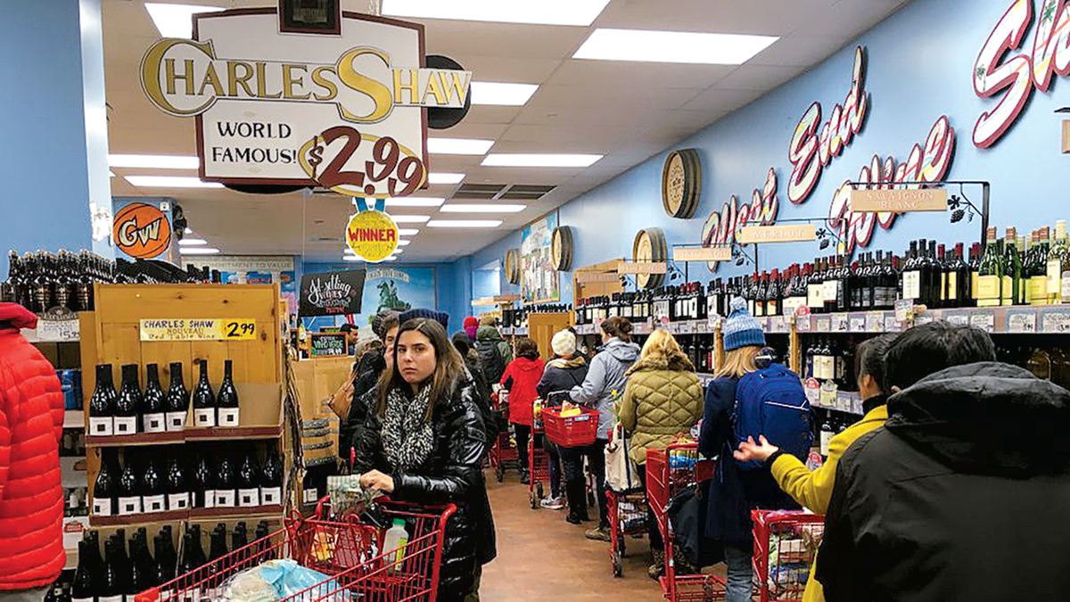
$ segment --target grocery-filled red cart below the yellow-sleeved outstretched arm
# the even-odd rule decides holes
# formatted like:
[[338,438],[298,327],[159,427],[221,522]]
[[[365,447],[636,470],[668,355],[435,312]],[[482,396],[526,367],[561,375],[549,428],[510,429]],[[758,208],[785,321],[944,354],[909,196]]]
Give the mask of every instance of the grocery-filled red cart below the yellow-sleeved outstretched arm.
[[801,510],[752,510],[751,518],[761,602],[800,602],[825,517]]

